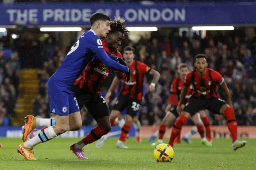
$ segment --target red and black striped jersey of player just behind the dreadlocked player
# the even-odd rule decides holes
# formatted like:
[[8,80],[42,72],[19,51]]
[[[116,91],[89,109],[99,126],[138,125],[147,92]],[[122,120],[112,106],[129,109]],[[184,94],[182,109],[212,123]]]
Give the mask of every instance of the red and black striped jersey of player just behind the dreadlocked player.
[[[129,67],[131,70],[131,79],[129,82],[124,81],[124,85],[120,89],[120,94],[128,95],[132,99],[142,100],[142,88],[144,82],[144,75],[150,70],[146,64],[134,60]],[[118,77],[125,77],[124,74],[118,72]]]

